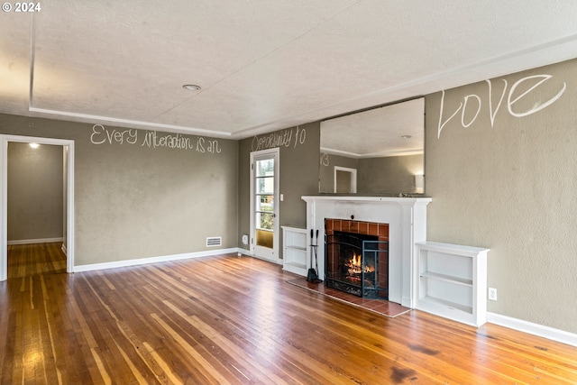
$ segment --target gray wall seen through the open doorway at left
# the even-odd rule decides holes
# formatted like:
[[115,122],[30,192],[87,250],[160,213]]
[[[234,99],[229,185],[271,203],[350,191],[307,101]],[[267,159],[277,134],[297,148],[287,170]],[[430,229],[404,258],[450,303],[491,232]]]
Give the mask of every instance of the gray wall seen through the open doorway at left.
[[63,237],[62,147],[8,143],[8,241]]

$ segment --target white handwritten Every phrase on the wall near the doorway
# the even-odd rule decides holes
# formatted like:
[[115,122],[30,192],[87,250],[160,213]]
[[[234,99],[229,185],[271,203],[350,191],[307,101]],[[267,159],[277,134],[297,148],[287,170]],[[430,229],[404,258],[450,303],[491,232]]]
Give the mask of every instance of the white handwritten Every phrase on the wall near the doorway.
[[193,139],[180,133],[166,133],[160,135],[156,131],[111,129],[106,128],[102,124],[95,124],[92,126],[90,142],[93,144],[138,144],[139,133],[143,133],[144,136],[140,141],[140,145],[151,149],[161,147],[175,150],[191,150],[201,153],[220,153],[223,151],[217,140],[206,139],[202,136]]

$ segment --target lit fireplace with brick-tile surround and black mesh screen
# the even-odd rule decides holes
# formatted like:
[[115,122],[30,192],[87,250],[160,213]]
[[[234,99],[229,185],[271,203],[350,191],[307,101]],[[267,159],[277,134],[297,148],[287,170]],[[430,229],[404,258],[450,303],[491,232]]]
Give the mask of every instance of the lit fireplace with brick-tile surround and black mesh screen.
[[389,298],[389,225],[326,219],[325,285],[362,298]]

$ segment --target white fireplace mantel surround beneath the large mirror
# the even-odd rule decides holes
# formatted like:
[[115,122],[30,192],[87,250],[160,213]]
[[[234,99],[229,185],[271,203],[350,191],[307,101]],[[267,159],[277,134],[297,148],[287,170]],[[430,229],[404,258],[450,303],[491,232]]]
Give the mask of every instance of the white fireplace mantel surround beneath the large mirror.
[[[307,234],[325,234],[325,218],[354,219],[389,225],[389,300],[417,305],[417,246],[426,241],[426,206],[430,197],[307,196]],[[317,248],[318,275],[325,280],[324,237]],[[310,245],[308,255],[311,255]],[[311,261],[307,261],[307,268]]]

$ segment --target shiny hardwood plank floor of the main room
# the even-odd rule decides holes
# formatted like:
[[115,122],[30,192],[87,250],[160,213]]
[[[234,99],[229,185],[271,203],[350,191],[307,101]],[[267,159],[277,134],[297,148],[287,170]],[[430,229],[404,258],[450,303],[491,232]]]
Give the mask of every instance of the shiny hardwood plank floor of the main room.
[[0,282],[2,384],[577,383],[575,347],[376,315],[246,256],[32,272]]

